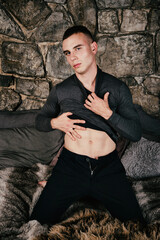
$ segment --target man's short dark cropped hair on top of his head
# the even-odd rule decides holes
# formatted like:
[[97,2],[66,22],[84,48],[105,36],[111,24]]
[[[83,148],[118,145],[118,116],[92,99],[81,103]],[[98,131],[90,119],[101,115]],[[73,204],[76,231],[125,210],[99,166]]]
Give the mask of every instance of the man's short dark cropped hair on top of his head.
[[92,33],[88,30],[88,28],[86,28],[83,25],[74,25],[68,28],[63,35],[63,40],[67,39],[68,37],[72,36],[75,33],[83,33],[87,35],[92,41],[94,41]]

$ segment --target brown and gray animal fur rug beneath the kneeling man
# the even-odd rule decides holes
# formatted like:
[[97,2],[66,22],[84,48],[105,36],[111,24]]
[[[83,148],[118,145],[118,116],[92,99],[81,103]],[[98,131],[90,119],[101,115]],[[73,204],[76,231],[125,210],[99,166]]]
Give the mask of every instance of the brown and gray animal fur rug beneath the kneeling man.
[[36,164],[31,168],[0,169],[1,240],[159,240],[160,177],[132,180],[133,188],[148,224],[126,222],[110,216],[107,210],[85,202],[73,204],[63,220],[50,229],[28,221],[52,167]]

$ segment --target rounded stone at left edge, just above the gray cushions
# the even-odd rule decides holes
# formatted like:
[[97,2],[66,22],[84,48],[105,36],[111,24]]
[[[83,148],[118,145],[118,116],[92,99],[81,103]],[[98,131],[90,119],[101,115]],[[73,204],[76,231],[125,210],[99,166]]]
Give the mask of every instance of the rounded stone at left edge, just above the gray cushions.
[[12,89],[0,89],[0,110],[13,111],[21,102],[21,97]]

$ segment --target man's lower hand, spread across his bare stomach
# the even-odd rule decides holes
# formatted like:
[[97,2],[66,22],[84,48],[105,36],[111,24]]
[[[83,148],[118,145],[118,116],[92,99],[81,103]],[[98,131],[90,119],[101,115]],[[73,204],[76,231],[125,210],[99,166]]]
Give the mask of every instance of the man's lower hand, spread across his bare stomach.
[[[68,116],[72,115],[71,112],[62,113],[57,118],[52,118],[51,126],[53,129],[59,129],[65,132],[73,141],[76,138],[81,138],[76,130],[85,130],[85,127],[77,125],[77,123],[85,123],[85,120],[70,119]],[[76,124],[75,124],[76,123]]]

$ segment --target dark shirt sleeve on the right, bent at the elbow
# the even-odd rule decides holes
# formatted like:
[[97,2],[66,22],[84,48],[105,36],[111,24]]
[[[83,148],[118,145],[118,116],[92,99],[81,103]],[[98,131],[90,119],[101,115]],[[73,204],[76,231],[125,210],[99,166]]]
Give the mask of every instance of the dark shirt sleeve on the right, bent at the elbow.
[[141,138],[141,124],[132,102],[132,95],[126,84],[122,84],[117,99],[117,109],[107,120],[121,136],[136,142]]

